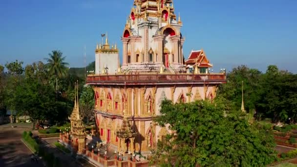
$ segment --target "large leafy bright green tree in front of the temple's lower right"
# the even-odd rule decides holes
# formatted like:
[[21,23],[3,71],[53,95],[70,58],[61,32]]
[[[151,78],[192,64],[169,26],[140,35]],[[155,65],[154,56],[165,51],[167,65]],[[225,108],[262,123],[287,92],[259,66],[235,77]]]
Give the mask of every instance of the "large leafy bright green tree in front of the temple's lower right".
[[[156,123],[174,132],[159,141],[153,159],[162,166],[262,167],[276,158],[274,139],[258,125],[249,125],[240,111],[213,103],[161,104]],[[227,113],[227,115],[226,115]]]

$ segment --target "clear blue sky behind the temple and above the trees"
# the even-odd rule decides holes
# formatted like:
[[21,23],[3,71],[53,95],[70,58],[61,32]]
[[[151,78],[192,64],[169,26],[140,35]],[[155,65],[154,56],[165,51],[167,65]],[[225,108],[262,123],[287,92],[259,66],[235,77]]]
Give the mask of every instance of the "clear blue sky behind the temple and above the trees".
[[[99,35],[122,50],[133,0],[0,0],[0,64],[40,61],[59,49],[71,67],[94,61]],[[297,73],[297,0],[174,0],[184,56],[203,48],[215,71],[269,64]],[[121,55],[122,56],[122,55]]]

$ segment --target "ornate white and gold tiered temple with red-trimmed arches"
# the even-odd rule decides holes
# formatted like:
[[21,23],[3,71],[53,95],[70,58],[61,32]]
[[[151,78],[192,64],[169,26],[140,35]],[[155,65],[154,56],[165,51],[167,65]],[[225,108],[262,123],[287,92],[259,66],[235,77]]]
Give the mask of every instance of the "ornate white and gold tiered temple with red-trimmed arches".
[[121,39],[122,66],[108,74],[100,66],[101,73],[88,75],[87,84],[95,92],[98,137],[124,155],[147,155],[169,133],[153,122],[160,103],[212,100],[226,74],[209,70],[203,50],[184,61],[182,21],[172,0],[134,0],[133,5]]

